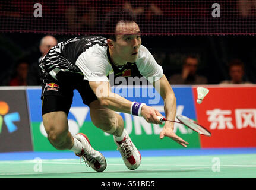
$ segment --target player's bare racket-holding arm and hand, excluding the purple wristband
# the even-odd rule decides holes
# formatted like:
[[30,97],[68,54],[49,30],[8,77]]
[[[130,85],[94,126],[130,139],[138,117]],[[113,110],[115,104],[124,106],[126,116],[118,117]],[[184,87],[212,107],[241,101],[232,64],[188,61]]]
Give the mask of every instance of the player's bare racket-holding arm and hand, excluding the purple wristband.
[[[131,113],[133,102],[119,96],[118,94],[112,93],[109,82],[89,81],[89,84],[103,107],[107,107],[108,109],[112,109],[116,112]],[[141,107],[140,113],[147,122],[153,124],[161,123],[157,116],[162,115],[153,107],[144,105]]]

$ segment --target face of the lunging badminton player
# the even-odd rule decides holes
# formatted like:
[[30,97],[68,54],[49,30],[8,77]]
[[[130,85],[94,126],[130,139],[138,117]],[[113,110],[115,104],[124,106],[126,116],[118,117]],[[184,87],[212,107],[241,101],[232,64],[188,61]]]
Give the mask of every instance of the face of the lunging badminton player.
[[141,38],[138,24],[134,22],[120,22],[116,25],[116,42],[114,42],[114,48],[121,62],[124,64],[126,62],[135,62],[138,58],[140,45]]

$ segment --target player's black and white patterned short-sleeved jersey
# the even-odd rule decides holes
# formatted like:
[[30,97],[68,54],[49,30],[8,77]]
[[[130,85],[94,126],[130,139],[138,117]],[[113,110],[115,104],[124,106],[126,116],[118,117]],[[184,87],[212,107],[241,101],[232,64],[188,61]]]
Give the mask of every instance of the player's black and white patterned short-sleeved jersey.
[[142,45],[135,63],[128,62],[118,68],[110,60],[106,38],[81,36],[60,42],[50,49],[40,67],[56,80],[59,71],[81,73],[88,81],[109,81],[109,75],[114,74],[115,77],[143,76],[153,82],[163,75],[162,67]]

